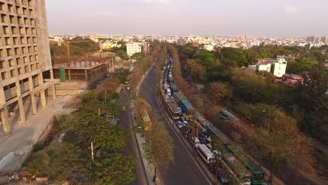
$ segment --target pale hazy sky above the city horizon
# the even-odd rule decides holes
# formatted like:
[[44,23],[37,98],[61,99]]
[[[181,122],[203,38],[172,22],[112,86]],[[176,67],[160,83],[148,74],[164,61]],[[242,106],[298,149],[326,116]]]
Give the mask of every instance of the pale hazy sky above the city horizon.
[[328,0],[46,0],[50,34],[328,35]]

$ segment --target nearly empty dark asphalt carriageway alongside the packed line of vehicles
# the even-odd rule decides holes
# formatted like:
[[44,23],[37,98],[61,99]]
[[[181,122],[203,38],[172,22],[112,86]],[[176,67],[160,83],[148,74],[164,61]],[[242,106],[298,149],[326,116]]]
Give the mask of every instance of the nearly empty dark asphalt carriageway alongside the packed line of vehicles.
[[160,169],[160,177],[163,184],[210,184],[198,165],[196,165],[193,156],[189,154],[189,151],[186,150],[182,141],[180,141],[179,137],[175,134],[170,125],[168,125],[169,123],[164,119],[163,113],[160,111],[160,107],[158,107],[156,100],[156,73],[154,69],[151,69],[144,79],[139,96],[146,100],[158,113],[160,121],[165,123],[170,136],[175,141],[175,163],[170,165],[168,170]]

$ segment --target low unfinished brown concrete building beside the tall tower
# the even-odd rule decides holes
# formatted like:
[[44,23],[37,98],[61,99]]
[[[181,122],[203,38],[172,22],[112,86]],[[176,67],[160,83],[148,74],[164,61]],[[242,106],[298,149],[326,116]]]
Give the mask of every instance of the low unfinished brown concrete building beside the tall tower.
[[53,57],[55,78],[61,81],[95,81],[113,67],[111,57]]

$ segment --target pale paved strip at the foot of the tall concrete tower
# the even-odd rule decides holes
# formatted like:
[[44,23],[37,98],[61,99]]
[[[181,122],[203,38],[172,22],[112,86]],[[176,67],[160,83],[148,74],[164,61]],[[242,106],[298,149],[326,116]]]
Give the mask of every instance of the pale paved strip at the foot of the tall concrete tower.
[[[55,102],[48,100],[47,107],[39,107],[36,115],[30,113],[27,122],[13,129],[11,135],[0,135],[0,170],[20,169],[33,145],[53,121],[53,116],[70,114],[75,110],[63,107],[71,98],[72,96],[64,96],[57,97]],[[2,160],[5,156],[6,159]]]

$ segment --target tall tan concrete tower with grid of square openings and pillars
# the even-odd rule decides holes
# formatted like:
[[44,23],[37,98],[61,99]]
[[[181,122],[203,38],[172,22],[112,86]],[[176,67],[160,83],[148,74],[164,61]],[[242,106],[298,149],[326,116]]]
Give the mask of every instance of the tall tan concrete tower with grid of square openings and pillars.
[[8,109],[17,106],[20,123],[25,123],[29,98],[37,114],[36,96],[46,107],[46,90],[55,83],[50,60],[48,25],[44,0],[0,0],[0,109],[5,134],[11,133]]

